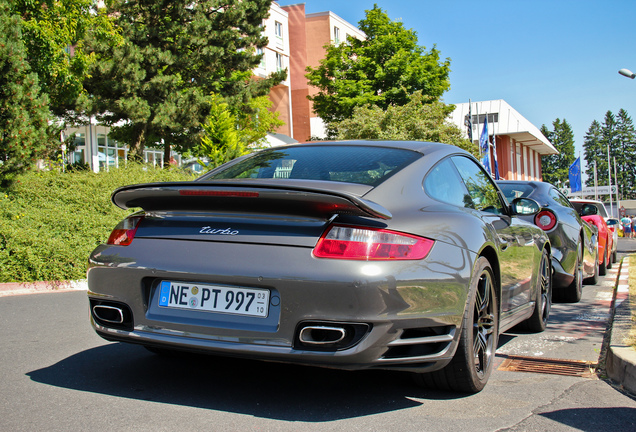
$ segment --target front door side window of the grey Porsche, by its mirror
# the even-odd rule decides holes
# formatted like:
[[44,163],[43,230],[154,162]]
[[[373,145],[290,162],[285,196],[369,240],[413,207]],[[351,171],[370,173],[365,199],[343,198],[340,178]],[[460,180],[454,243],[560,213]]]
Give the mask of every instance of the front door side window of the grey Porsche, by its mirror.
[[490,175],[472,159],[463,156],[454,156],[452,159],[475,208],[495,214],[504,213],[497,187]]

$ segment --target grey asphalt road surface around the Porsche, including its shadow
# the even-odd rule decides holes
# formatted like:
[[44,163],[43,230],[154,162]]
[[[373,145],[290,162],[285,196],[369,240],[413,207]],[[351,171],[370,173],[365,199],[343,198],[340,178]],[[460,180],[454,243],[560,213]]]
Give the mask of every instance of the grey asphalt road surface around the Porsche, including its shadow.
[[[507,356],[596,362],[615,268],[556,304],[541,334],[507,333]],[[592,377],[495,370],[476,395],[407,374],[187,355],[100,339],[85,292],[0,297],[1,431],[636,430],[636,400]]]

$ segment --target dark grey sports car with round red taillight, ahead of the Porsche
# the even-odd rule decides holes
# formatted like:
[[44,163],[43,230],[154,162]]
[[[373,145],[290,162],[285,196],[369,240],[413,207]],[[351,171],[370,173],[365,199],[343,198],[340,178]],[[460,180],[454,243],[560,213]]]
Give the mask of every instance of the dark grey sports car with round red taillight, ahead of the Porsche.
[[550,183],[500,180],[497,182],[508,201],[526,197],[536,200],[541,210],[522,216],[542,228],[552,245],[554,295],[559,300],[581,300],[583,282],[598,280],[597,229],[583,221],[570,201]]

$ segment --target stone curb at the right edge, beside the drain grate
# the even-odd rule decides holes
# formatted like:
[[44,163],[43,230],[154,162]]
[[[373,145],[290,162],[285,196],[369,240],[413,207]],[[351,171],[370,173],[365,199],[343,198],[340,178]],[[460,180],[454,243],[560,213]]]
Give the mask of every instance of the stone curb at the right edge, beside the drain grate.
[[623,258],[616,285],[612,335],[605,367],[610,379],[620,383],[626,391],[636,394],[636,350],[624,342],[632,327],[629,257]]

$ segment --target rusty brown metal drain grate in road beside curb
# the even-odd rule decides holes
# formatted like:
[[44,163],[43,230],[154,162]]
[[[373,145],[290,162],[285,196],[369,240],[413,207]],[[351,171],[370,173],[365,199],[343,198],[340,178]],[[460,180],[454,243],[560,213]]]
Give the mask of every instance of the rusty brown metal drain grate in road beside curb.
[[595,375],[596,365],[594,362],[582,360],[507,356],[497,369],[508,372],[533,372],[591,378]]

